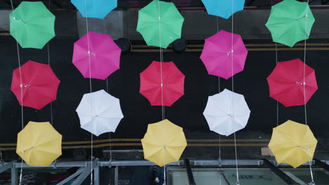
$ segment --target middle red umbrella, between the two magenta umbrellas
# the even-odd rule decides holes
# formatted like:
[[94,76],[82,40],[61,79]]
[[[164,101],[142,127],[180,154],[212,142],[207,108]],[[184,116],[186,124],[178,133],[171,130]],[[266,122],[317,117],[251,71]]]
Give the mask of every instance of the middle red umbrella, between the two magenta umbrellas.
[[172,106],[184,95],[185,76],[174,62],[161,63],[153,61],[141,72],[139,93],[146,97],[152,106]]

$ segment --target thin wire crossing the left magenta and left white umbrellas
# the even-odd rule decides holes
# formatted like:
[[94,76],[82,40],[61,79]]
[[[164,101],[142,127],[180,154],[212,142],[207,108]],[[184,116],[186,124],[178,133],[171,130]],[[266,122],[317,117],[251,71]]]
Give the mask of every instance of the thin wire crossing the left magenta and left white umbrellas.
[[[90,88],[90,93],[92,93],[92,84],[91,84],[91,62],[90,62],[90,43],[89,43],[89,27],[88,27],[88,15],[87,15],[87,6],[86,6],[86,0],[84,0],[84,11],[86,15],[86,35],[87,35],[87,45],[88,45],[88,63],[89,63],[89,88]],[[92,110],[92,95],[91,95],[91,110]],[[91,163],[91,168],[90,168],[90,184],[93,185],[93,134],[91,133],[91,156],[90,156],[90,163]]]

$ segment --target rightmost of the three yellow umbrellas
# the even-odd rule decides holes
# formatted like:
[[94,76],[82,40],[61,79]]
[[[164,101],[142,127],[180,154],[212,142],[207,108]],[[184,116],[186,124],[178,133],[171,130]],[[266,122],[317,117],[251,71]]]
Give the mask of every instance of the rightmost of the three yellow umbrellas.
[[289,120],[273,128],[269,148],[278,163],[296,168],[313,159],[317,143],[308,125]]

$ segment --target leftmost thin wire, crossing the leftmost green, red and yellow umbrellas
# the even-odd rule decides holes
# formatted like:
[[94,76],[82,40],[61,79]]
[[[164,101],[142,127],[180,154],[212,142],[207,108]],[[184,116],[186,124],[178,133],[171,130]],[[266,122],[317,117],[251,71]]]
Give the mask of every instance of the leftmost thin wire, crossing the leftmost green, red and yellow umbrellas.
[[[14,11],[13,8],[13,1],[11,0],[11,9]],[[17,37],[17,29],[15,29],[15,35]],[[24,128],[24,109],[23,109],[23,97],[22,97],[22,70],[20,69],[20,49],[18,47],[18,41],[16,40],[16,48],[17,48],[17,55],[18,55],[18,69],[20,71],[20,101],[21,101],[21,105],[20,105],[20,111],[21,111],[21,123],[22,123],[22,130]],[[24,146],[23,146],[24,148]],[[23,162],[23,158],[24,158],[24,151],[22,151],[22,161],[20,163],[20,185],[22,184],[22,162]]]

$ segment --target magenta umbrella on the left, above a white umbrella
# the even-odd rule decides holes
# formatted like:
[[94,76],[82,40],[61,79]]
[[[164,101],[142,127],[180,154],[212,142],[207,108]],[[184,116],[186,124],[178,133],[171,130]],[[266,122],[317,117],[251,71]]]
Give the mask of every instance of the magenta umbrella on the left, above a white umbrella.
[[75,42],[72,61],[84,78],[104,80],[120,68],[120,55],[111,36],[89,32]]

